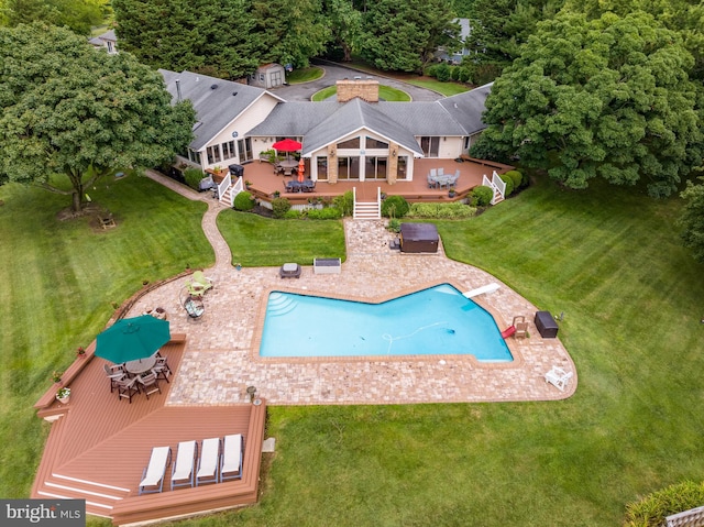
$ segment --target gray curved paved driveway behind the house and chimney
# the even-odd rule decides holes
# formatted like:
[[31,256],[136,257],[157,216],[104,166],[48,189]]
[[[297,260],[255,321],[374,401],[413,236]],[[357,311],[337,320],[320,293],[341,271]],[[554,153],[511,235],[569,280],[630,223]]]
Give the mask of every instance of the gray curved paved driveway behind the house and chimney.
[[435,101],[443,98],[443,96],[436,94],[432,90],[418,88],[417,86],[388,77],[367,75],[366,73],[358,72],[356,69],[350,69],[329,63],[316,63],[315,65],[324,69],[324,75],[321,78],[311,80],[310,83],[282,86],[280,88],[274,88],[270,91],[287,101],[310,100],[314,94],[320,91],[322,88],[327,88],[328,86],[336,84],[338,80],[345,78],[353,79],[354,77],[360,76],[362,78],[371,77],[373,79],[377,79],[382,85],[406,91],[415,101]]

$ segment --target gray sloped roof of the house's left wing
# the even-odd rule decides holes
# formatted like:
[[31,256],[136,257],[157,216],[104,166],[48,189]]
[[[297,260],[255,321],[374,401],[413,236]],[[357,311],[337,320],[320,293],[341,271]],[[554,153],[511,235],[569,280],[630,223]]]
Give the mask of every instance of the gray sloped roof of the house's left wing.
[[194,127],[196,139],[190,143],[193,150],[202,149],[208,141],[220,133],[238,116],[254,101],[268,94],[262,88],[218,79],[190,72],[158,70],[164,77],[166,89],[172,95],[172,101],[178,99],[176,80],[179,80],[182,99],[189,99],[196,109],[197,123]]

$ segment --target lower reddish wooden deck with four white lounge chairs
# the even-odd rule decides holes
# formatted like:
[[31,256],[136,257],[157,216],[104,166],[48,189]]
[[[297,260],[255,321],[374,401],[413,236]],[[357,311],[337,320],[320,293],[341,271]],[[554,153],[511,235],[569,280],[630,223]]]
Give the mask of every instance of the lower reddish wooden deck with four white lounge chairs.
[[[178,375],[185,336],[173,336],[161,353]],[[37,403],[38,415],[52,428],[32,486],[34,498],[84,498],[88,514],[125,525],[177,518],[208,510],[233,508],[256,502],[266,405],[164,406],[170,384],[161,382],[162,394],[120,400],[103,372],[105,360],[78,359],[70,402],[54,399],[56,387]],[[138,486],[153,447],[170,447],[175,461],[179,441],[242,433],[241,480],[170,490],[170,465],[160,494],[140,496]]]

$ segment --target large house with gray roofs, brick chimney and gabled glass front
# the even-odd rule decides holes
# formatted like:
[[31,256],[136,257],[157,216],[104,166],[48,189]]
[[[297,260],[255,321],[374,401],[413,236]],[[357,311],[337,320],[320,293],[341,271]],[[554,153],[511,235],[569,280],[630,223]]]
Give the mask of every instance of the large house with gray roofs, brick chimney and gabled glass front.
[[202,169],[244,164],[292,138],[310,160],[310,178],[327,183],[413,180],[416,158],[466,154],[485,128],[491,91],[486,85],[435,102],[386,102],[376,80],[354,79],[338,84],[337,100],[287,102],[253,86],[160,72],[174,100],[190,99],[198,116],[179,162]]

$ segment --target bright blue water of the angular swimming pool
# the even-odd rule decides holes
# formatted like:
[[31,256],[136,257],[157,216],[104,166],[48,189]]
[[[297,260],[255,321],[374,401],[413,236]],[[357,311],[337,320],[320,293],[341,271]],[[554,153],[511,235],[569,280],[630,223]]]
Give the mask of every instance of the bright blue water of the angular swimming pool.
[[268,296],[261,356],[437,354],[514,360],[494,318],[449,284],[382,304]]

